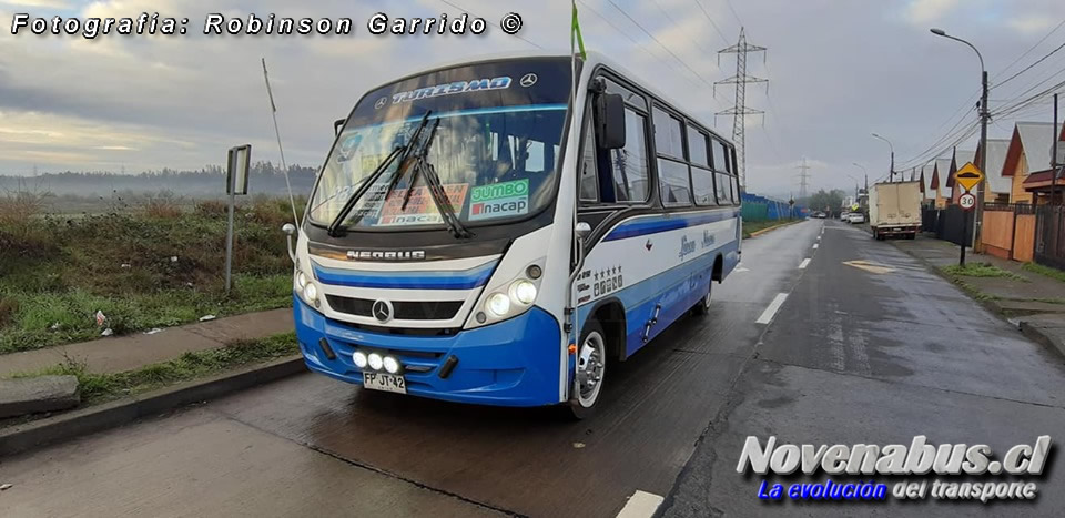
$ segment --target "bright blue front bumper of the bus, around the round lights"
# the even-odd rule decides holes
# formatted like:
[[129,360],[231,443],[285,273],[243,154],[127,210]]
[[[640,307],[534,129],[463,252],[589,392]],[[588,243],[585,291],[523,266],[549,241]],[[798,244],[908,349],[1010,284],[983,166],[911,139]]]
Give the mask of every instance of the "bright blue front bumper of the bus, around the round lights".
[[[561,334],[558,322],[538,307],[520,316],[450,336],[369,332],[326,318],[293,297],[296,337],[307,367],[343,382],[362,384],[352,360],[356,348],[387,352],[405,366],[407,393],[459,403],[541,406],[559,403]],[[328,359],[325,338],[336,357]],[[448,357],[458,364],[440,378]]]

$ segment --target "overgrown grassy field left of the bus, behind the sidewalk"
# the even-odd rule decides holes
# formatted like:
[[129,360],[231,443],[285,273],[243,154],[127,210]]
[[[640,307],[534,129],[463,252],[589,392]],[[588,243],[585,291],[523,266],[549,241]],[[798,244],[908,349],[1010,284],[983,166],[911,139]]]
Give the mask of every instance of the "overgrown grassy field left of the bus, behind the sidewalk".
[[41,214],[23,197],[0,196],[0,354],[291,303],[285,200],[237,207],[237,275],[226,293],[222,202],[189,210],[152,199],[133,212],[74,217]]

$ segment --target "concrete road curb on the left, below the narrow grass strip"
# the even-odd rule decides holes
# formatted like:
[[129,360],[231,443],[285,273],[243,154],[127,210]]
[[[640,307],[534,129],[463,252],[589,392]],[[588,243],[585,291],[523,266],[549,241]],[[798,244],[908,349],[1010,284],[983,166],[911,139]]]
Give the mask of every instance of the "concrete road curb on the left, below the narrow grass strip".
[[16,425],[0,430],[0,457],[114,428],[141,417],[217,398],[306,372],[302,356],[290,356],[205,379]]

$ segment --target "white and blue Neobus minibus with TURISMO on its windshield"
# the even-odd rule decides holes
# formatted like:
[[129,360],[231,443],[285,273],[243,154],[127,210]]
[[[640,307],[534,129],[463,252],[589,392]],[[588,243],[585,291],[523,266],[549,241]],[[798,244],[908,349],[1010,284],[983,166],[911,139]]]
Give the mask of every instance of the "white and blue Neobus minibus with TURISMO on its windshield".
[[343,382],[580,417],[740,261],[733,146],[595,53],[409,75],[336,133],[286,232],[301,351]]

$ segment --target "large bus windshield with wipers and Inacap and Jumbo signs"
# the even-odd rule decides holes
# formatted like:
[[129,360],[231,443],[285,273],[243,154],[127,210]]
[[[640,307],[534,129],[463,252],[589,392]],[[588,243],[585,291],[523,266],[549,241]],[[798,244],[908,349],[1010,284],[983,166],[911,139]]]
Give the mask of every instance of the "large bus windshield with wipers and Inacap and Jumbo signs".
[[[423,148],[443,189],[439,200],[464,225],[511,222],[544,210],[557,187],[569,67],[568,60],[542,58],[480,63],[406,79],[365,95],[323,169],[310,205],[312,222],[329,225],[387,163],[338,226],[443,228],[429,183],[413,167]],[[388,162],[426,115],[423,135]]]

